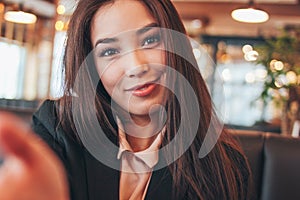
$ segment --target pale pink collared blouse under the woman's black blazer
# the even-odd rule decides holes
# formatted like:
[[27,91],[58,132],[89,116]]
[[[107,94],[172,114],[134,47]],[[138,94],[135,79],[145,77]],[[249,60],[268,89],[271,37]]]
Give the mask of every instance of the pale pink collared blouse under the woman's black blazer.
[[[119,124],[120,127],[120,124]],[[143,200],[150,183],[152,169],[158,162],[158,150],[162,143],[162,129],[153,143],[145,150],[133,152],[123,128],[119,128],[120,147],[117,155],[121,159],[120,200]]]

